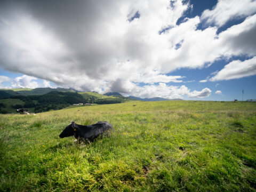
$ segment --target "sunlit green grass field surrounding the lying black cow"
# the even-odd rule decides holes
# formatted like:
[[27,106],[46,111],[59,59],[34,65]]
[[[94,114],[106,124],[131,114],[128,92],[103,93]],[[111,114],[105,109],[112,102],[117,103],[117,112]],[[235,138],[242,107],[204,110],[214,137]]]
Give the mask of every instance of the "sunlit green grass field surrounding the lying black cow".
[[[59,134],[108,121],[110,137]],[[256,103],[132,101],[0,115],[0,191],[256,191]]]

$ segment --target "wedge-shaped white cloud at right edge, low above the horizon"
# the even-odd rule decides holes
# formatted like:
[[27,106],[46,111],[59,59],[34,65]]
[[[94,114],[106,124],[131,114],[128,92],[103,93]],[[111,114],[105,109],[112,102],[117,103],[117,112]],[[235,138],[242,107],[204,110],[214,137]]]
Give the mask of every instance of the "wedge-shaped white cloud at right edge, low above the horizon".
[[252,75],[256,75],[256,57],[245,61],[231,61],[213,76],[210,81],[238,79]]

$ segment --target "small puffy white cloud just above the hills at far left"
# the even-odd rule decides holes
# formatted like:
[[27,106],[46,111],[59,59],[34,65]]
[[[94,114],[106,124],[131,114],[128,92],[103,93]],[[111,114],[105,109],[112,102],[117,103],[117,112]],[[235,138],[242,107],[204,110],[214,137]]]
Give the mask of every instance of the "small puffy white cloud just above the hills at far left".
[[14,81],[12,82],[12,87],[13,88],[18,88],[18,87],[25,88],[26,87],[26,88],[35,89],[39,86],[39,84],[33,80],[37,80],[37,78],[27,76],[27,75],[22,75],[20,77],[14,78]]

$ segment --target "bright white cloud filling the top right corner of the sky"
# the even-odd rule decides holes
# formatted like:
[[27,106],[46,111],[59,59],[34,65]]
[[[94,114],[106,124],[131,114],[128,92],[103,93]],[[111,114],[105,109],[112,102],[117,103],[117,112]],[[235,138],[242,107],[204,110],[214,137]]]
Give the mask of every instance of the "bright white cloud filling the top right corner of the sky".
[[245,18],[254,13],[256,13],[256,1],[219,0],[214,9],[202,13],[201,19],[222,26],[231,19]]

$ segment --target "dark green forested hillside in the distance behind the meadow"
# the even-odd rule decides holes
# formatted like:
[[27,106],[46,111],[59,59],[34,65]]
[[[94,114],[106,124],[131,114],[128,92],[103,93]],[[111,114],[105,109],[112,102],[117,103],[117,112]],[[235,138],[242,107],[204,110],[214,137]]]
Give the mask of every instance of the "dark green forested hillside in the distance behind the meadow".
[[[131,101],[132,99],[120,95],[117,97],[106,96],[94,92],[74,92],[65,91],[62,89],[54,89],[58,91],[51,91],[46,94],[39,94],[51,89],[37,89],[34,93],[37,95],[13,95],[7,92],[2,93],[5,95],[4,99],[0,99],[0,113],[16,113],[16,109],[27,108],[29,113],[40,113],[49,110],[58,110],[66,108],[75,103],[97,103],[97,104],[112,104],[123,103]],[[14,92],[13,90],[8,90]],[[18,91],[15,91],[16,93]]]

